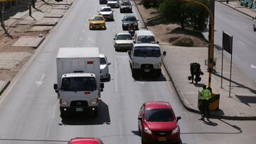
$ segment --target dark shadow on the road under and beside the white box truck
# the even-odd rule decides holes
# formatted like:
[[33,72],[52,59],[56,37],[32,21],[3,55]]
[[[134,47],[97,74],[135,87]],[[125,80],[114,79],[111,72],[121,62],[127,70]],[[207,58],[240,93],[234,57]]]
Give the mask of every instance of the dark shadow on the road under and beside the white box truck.
[[98,114],[74,113],[67,118],[63,118],[60,125],[102,125],[110,124],[110,111],[104,101],[99,102]]

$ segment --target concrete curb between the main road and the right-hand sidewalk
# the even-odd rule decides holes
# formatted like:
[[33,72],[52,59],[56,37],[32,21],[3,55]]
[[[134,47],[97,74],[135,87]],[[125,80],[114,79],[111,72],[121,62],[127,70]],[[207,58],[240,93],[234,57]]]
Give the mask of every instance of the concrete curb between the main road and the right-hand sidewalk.
[[[135,0],[134,0],[134,4],[137,7],[137,10],[139,11],[139,8],[138,8]],[[139,11],[139,15],[142,17],[142,21],[143,21],[144,25],[146,26],[146,23],[144,22],[142,13],[140,11]],[[146,26],[146,29],[148,29],[147,26]],[[195,109],[192,106],[189,106],[189,104],[187,104],[186,99],[182,96],[181,91],[178,89],[178,85],[177,85],[175,79],[173,79],[174,75],[171,74],[171,72],[169,72],[169,70],[167,69],[165,60],[163,60],[163,65],[164,65],[164,69],[166,70],[168,76],[171,79],[171,83],[174,85],[174,89],[178,95],[178,98],[181,101],[181,104],[184,106],[184,108],[193,113],[201,113],[198,109]],[[221,118],[221,119],[228,119],[228,120],[240,120],[240,121],[256,120],[256,116],[227,116],[227,115],[218,115],[215,113],[211,113],[210,115],[211,115],[210,118]]]

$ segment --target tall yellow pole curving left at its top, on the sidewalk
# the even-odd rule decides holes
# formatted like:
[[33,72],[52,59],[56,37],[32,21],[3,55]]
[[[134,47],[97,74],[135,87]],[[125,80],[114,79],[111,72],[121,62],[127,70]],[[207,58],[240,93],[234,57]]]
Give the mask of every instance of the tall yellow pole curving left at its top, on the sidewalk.
[[[211,84],[211,74],[213,72],[213,45],[214,45],[214,15],[206,6],[205,4],[198,2],[198,1],[192,1],[192,0],[181,0],[185,2],[192,2],[193,4],[197,4],[199,6],[203,6],[206,11],[208,11],[210,15],[210,50],[209,50],[209,55],[208,55],[208,72],[209,72],[209,79],[208,79],[208,87],[210,87]],[[214,0],[211,0],[214,1]]]

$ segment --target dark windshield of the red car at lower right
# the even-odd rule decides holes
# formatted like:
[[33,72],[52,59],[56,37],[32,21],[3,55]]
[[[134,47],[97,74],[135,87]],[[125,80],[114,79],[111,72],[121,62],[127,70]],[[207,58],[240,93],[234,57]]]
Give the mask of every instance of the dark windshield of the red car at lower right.
[[174,113],[170,109],[149,109],[146,121],[174,121]]

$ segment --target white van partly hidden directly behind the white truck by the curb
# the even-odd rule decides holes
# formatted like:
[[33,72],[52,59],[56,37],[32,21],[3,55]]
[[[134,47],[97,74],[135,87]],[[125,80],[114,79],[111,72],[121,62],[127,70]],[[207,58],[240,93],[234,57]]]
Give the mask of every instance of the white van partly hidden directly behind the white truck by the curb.
[[134,33],[134,43],[159,43],[151,31],[139,30]]

